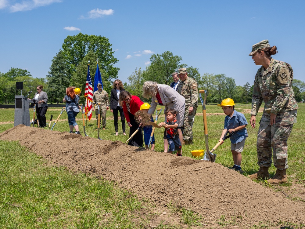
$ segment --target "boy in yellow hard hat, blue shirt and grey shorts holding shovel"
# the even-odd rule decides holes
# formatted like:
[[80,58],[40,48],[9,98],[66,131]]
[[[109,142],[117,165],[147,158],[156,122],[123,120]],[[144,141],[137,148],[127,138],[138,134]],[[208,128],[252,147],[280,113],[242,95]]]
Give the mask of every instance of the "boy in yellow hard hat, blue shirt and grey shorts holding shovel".
[[[239,173],[243,173],[242,168],[240,167],[242,163],[242,150],[245,145],[246,137],[248,137],[246,126],[248,124],[245,115],[235,111],[234,100],[228,98],[222,100],[221,104],[217,104],[224,111],[224,114],[227,116],[224,118],[224,130],[221,133],[221,137],[218,141],[224,142],[222,138],[225,133],[228,132],[234,134],[230,137],[231,140],[231,152],[233,156],[234,165],[233,168]],[[221,143],[221,144],[222,144]]]

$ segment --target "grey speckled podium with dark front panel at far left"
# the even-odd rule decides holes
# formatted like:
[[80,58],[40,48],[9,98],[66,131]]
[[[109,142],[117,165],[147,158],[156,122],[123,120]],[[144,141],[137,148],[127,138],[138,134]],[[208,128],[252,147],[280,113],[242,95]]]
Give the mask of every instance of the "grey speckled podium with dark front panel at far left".
[[24,98],[24,96],[15,96],[15,117],[14,126],[23,124],[30,126],[30,110],[29,106],[32,100]]

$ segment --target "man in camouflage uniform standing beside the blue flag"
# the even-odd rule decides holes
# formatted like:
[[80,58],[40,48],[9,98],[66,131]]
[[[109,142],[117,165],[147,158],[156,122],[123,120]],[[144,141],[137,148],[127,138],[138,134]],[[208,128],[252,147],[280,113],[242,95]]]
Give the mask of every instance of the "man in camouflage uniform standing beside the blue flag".
[[[93,93],[93,100],[92,100],[92,111],[95,109],[95,117],[96,117],[96,125],[99,125],[99,103],[101,103],[101,118],[102,118],[102,125],[103,130],[106,127],[106,112],[109,109],[109,97],[108,93],[102,89],[102,84],[97,84],[98,90]],[[101,121],[100,121],[101,123]]]

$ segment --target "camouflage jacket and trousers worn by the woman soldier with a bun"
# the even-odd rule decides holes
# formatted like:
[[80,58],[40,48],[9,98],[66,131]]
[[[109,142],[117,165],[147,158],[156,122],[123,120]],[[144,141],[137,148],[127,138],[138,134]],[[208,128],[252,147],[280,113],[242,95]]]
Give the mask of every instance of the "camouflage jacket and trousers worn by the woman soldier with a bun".
[[[287,139],[293,123],[296,123],[298,105],[292,89],[293,71],[289,64],[271,58],[269,67],[262,66],[254,80],[252,111],[257,112],[265,102],[257,135],[257,164],[277,169],[287,169]],[[276,114],[275,124],[270,125],[270,113]],[[272,151],[271,151],[272,148]]]

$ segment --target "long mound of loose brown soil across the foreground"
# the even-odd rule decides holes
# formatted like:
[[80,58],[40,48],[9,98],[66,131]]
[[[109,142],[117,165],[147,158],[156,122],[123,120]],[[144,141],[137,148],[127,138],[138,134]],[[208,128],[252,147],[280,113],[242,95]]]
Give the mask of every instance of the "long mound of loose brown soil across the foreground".
[[151,199],[159,211],[154,226],[179,221],[166,208],[170,202],[201,214],[205,227],[219,227],[224,216],[236,221],[225,228],[248,228],[261,221],[305,224],[302,199],[291,200],[284,191],[274,192],[217,163],[25,125],[2,132],[0,139],[18,140],[49,162],[116,181],[139,198]]

